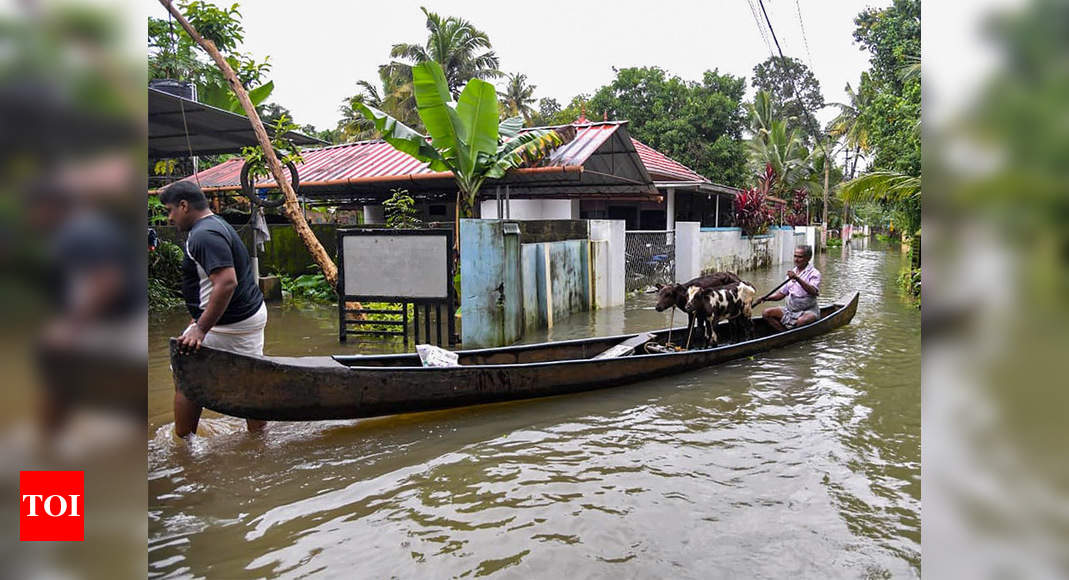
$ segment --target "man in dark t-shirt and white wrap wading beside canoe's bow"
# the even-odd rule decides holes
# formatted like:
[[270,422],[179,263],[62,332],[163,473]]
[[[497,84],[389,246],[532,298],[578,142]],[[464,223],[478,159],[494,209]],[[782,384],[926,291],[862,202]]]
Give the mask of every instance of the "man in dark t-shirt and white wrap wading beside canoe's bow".
[[[229,223],[207,207],[200,187],[179,182],[159,194],[168,219],[189,232],[182,264],[182,294],[192,323],[179,339],[179,349],[191,354],[202,344],[244,355],[263,355],[267,307],[252,276],[245,244]],[[174,391],[174,432],[197,433],[201,407]],[[250,432],[265,421],[248,420]]]

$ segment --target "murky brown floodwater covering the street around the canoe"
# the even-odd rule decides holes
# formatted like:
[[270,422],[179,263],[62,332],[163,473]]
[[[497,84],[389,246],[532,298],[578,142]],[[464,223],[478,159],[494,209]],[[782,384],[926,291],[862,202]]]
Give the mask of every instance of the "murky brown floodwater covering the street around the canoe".
[[[750,360],[259,436],[205,411],[189,444],[171,434],[167,360],[188,315],[157,317],[150,576],[918,576],[920,312],[896,286],[904,255],[853,244],[815,258],[822,303],[862,293],[853,322]],[[788,267],[740,276],[763,295]],[[664,328],[653,302],[639,294],[524,342]],[[264,350],[400,346],[340,345],[337,324],[334,307],[273,305]]]

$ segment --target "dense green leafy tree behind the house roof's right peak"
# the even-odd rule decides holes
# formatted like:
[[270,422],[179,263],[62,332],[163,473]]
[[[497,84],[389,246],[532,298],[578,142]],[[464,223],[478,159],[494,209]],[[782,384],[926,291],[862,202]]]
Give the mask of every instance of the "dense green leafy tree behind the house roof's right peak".
[[[684,81],[657,67],[621,68],[587,106],[592,119],[630,121],[629,131],[713,182],[747,179],[742,143],[745,112],[742,77],[707,70],[701,81]],[[574,121],[574,117],[570,119]]]

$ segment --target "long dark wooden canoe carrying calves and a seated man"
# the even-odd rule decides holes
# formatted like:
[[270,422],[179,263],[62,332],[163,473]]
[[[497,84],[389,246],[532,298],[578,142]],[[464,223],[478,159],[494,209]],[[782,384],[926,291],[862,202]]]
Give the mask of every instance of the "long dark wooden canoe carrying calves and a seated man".
[[[461,350],[460,366],[423,367],[416,354],[257,357],[201,347],[177,351],[174,382],[201,406],[233,417],[270,421],[355,419],[499,401],[552,396],[664,377],[748,357],[841,327],[854,317],[858,294],[821,309],[816,323],[774,332],[754,318],[753,340],[702,350],[594,358],[636,334]],[[684,328],[672,329],[677,341]],[[717,334],[727,343],[726,324]],[[668,329],[652,333],[664,342]]]

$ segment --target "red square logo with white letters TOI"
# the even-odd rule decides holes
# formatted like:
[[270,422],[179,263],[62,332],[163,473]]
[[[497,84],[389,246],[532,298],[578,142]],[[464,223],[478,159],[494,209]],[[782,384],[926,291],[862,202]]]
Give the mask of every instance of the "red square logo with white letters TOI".
[[86,539],[84,490],[82,471],[19,471],[18,538],[22,542]]

